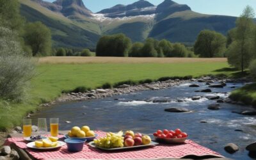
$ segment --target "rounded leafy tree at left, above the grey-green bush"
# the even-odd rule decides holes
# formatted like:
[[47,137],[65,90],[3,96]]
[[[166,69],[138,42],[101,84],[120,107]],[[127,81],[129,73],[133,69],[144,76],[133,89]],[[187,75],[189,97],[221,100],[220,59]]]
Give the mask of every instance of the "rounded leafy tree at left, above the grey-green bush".
[[51,54],[51,30],[42,22],[26,24],[24,41],[31,46],[33,56],[49,56]]

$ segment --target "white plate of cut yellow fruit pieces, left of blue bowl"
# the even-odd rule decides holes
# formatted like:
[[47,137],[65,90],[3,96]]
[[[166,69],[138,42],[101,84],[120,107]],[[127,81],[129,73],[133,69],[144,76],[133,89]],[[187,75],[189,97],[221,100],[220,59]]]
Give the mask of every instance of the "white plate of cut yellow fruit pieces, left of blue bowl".
[[58,138],[56,137],[49,137],[45,140],[32,141],[27,144],[27,147],[39,150],[52,150],[60,148],[63,145],[65,145],[65,142],[58,141]]

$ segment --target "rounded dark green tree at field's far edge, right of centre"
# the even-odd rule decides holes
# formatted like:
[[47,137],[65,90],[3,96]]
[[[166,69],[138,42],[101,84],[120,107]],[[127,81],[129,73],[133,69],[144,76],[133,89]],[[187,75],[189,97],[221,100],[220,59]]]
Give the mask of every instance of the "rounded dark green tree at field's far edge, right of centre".
[[201,31],[196,39],[195,54],[200,57],[213,58],[221,57],[226,49],[226,38],[216,31]]

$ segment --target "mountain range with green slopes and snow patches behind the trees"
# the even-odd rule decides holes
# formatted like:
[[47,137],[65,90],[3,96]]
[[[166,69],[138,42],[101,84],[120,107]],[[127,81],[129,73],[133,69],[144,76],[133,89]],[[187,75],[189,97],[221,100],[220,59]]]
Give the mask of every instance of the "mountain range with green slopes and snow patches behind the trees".
[[196,13],[186,4],[164,0],[158,6],[145,0],[117,4],[93,13],[82,0],[19,0],[28,21],[51,28],[55,47],[94,48],[102,35],[124,33],[133,42],[148,37],[192,45],[203,29],[227,34],[237,17]]

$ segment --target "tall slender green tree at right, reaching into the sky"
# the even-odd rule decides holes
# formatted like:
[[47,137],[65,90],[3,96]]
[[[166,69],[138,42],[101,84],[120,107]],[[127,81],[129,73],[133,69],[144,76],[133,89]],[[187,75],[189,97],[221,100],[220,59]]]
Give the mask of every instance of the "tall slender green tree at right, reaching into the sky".
[[244,72],[253,58],[253,8],[246,6],[242,15],[236,20],[234,40],[228,47],[228,63]]

